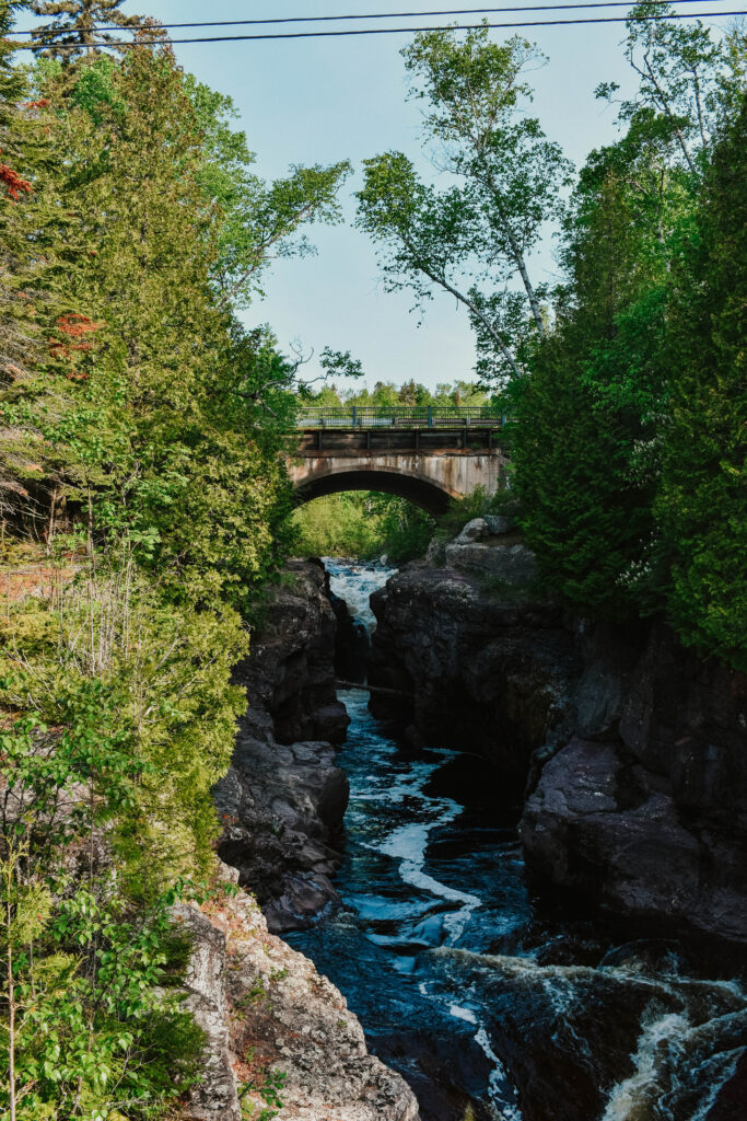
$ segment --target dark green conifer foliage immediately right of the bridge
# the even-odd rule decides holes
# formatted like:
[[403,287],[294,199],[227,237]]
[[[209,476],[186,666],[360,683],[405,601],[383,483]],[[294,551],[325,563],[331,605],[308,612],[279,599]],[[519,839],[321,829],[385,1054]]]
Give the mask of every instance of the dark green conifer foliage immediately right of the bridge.
[[651,495],[628,476],[628,452],[625,427],[585,383],[573,334],[553,337],[517,402],[520,520],[548,586],[617,619],[631,611],[651,529]]

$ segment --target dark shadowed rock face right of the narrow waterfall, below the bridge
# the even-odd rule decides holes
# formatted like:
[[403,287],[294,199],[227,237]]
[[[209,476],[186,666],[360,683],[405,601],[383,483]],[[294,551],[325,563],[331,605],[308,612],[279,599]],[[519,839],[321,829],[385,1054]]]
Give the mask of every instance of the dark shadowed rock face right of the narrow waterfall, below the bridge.
[[474,574],[418,564],[371,604],[368,680],[411,691],[419,734],[485,754],[497,765],[496,799],[519,802],[532,753],[563,732],[580,668],[561,612],[501,599]]

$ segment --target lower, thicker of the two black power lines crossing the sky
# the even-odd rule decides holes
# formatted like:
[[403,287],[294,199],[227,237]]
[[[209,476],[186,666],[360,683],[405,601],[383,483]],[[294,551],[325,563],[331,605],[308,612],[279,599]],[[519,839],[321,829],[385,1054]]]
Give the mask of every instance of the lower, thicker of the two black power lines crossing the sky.
[[[699,0],[702,2],[702,0]],[[707,0],[708,2],[708,0]],[[669,12],[666,16],[636,16],[637,22],[664,22],[672,19],[718,19],[722,16],[747,16],[747,10],[739,9],[738,11],[693,11],[693,12]],[[326,38],[339,38],[343,36],[353,35],[411,35],[417,31],[479,31],[484,27],[488,29],[499,29],[499,30],[511,30],[522,29],[529,27],[575,27],[581,24],[626,24],[628,21],[627,16],[598,16],[598,17],[581,17],[579,19],[534,19],[534,20],[522,20],[520,22],[513,24],[489,24],[487,21],[483,24],[442,24],[440,26],[431,27],[360,27],[360,28],[348,28],[344,31],[267,31],[262,35],[209,35],[194,37],[189,39],[172,39],[153,37],[150,41],[138,43],[132,39],[120,39],[118,43],[113,44],[108,39],[100,39],[86,43],[55,43],[55,50],[80,50],[82,47],[137,47],[137,46],[153,46],[159,43],[168,44],[169,46],[178,46],[180,44],[188,43],[246,43],[246,41],[260,41],[269,39],[326,39]],[[67,30],[67,29],[63,29]],[[74,31],[75,28],[71,28]],[[120,28],[121,30],[121,28]],[[158,31],[158,28],[153,28],[153,31]],[[32,40],[29,43],[18,43],[21,49],[30,50],[46,50],[52,44],[35,44]]]

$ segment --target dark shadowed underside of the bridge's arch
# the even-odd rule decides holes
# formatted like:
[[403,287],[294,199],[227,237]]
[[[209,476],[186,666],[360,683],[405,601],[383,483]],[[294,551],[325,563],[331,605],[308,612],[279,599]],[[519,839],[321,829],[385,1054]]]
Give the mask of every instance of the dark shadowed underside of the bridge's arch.
[[293,489],[293,500],[297,506],[302,506],[325,494],[339,494],[342,491],[352,490],[396,494],[414,502],[430,515],[443,513],[448,510],[451,499],[461,497],[458,490],[413,471],[412,467],[403,471],[376,465],[375,467],[346,466],[302,476]]

